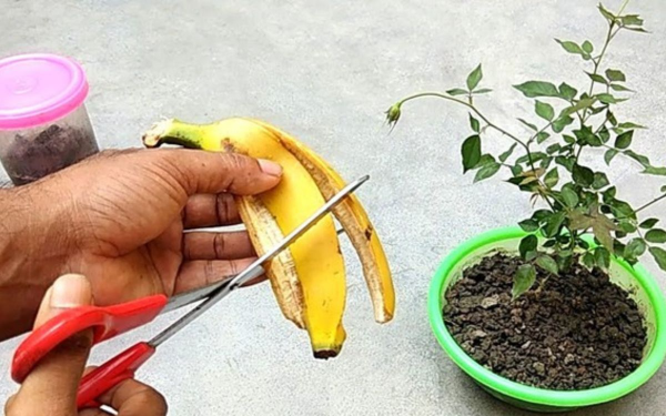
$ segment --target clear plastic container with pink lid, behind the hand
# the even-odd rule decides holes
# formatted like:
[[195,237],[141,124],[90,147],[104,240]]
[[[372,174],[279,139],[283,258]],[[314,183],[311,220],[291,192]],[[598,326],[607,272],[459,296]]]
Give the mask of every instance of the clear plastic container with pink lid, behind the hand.
[[85,73],[71,59],[24,54],[0,60],[0,162],[14,185],[99,152],[87,95]]

